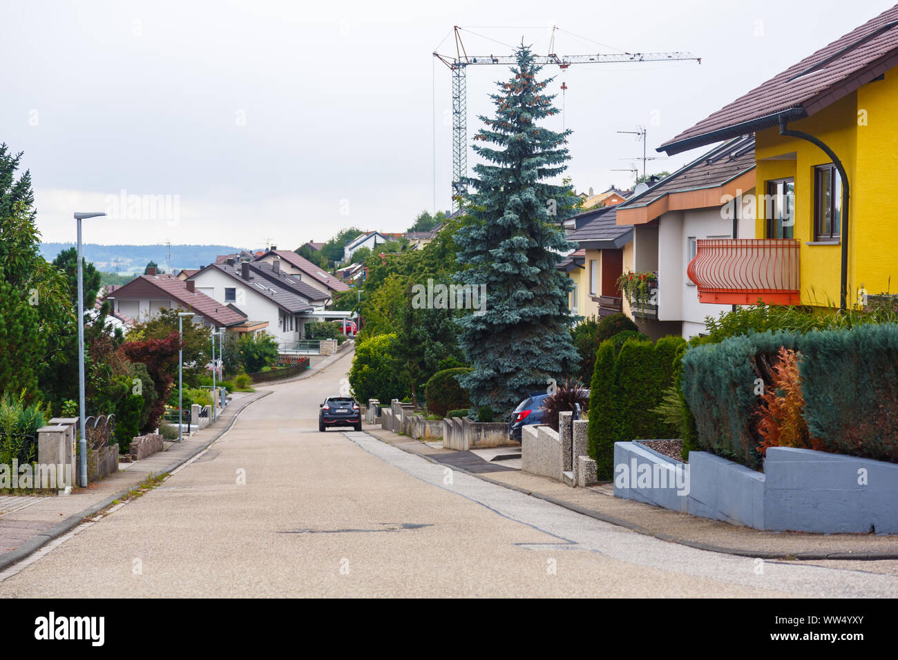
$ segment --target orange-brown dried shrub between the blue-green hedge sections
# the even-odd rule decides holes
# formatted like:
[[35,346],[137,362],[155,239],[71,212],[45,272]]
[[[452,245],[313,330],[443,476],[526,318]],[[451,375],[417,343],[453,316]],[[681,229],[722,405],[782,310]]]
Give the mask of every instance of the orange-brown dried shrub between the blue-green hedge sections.
[[778,360],[770,367],[773,385],[767,386],[761,395],[758,410],[758,435],[761,442],[758,451],[766,453],[768,447],[800,447],[820,449],[820,442],[811,436],[803,416],[805,396],[801,392],[801,374],[798,363],[801,353],[791,348],[779,348]]

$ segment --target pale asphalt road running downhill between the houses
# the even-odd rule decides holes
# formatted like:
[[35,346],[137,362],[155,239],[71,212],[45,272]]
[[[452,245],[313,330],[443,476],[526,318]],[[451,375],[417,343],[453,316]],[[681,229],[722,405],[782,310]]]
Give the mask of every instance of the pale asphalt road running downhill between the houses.
[[15,596],[894,596],[898,577],[657,541],[351,429],[350,356],[272,386],[161,486],[0,583]]

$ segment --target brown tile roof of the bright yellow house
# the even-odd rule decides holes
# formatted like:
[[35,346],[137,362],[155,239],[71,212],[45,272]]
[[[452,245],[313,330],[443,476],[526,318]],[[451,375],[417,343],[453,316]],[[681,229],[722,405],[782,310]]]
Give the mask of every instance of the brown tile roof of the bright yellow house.
[[898,66],[898,5],[805,57],[658,148],[667,154],[807,117]]

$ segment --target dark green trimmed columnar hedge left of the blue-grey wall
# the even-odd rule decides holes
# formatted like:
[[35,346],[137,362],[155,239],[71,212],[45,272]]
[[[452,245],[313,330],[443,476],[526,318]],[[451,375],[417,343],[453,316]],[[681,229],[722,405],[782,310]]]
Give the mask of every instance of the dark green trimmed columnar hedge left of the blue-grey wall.
[[587,437],[600,480],[612,479],[614,443],[676,435],[677,428],[655,409],[674,381],[674,357],[684,344],[681,337],[664,337],[657,344],[633,338],[623,342],[620,352],[612,339],[599,347]]

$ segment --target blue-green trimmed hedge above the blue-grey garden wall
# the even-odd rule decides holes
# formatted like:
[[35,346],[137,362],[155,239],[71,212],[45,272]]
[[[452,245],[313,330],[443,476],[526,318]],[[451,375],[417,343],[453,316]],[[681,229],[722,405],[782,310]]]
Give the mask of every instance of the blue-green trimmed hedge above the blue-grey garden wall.
[[758,381],[771,383],[779,348],[801,353],[804,418],[824,451],[898,462],[898,325],[863,324],[804,335],[762,332],[690,348],[682,392],[697,448],[762,467]]

